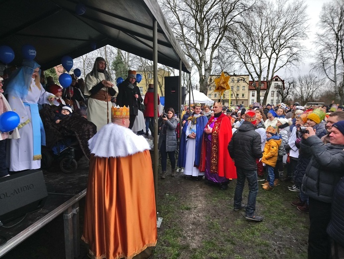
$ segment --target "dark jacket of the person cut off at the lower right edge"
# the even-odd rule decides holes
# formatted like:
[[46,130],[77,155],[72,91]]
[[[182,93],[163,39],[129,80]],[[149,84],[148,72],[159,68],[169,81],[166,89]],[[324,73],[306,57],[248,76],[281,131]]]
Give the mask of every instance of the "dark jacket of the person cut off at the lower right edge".
[[338,183],[333,194],[331,221],[327,227],[329,236],[344,247],[344,178]]

